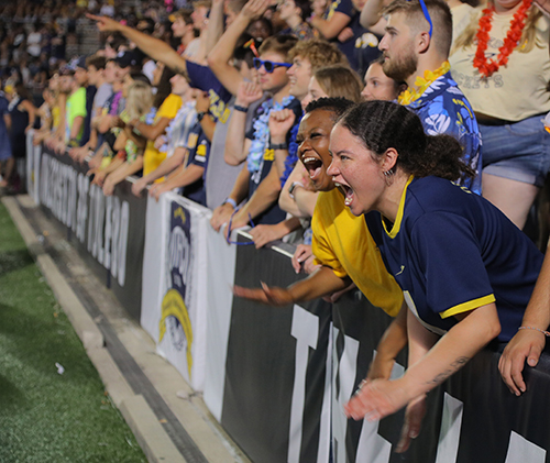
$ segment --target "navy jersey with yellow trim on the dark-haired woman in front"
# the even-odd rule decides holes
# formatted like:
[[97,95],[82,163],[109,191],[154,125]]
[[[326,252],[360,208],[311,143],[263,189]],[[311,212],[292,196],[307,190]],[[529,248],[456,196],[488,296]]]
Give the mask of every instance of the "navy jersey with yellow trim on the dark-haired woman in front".
[[542,265],[535,244],[482,197],[438,177],[409,179],[396,221],[365,216],[385,264],[422,324],[443,334],[453,317],[496,304],[509,341]]

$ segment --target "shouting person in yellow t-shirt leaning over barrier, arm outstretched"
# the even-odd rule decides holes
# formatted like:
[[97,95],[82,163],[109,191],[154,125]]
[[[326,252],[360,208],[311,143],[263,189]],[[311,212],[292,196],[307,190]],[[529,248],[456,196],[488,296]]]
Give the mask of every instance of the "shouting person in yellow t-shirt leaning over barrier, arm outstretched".
[[[320,239],[317,251],[322,251],[318,252],[322,255],[322,265],[308,278],[288,288],[268,287],[262,283],[262,288],[235,286],[233,291],[238,297],[272,306],[287,306],[341,291],[353,280],[374,306],[393,317],[397,316],[376,349],[377,354],[367,374],[370,379],[388,378],[395,357],[407,340],[407,310],[402,309],[403,294],[395,279],[387,273],[365,221],[346,210],[344,196],[334,187],[326,170],[330,164],[330,131],[338,117],[352,104],[342,98],[321,98],[314,101],[306,108],[306,115],[298,131],[300,159],[318,161],[318,170],[315,168],[312,183],[320,192],[312,228],[314,236],[317,234]],[[308,164],[312,164],[312,161]],[[330,230],[327,233],[328,229]],[[408,448],[410,439],[417,436],[418,428],[419,423],[404,430],[397,451],[403,452]]]

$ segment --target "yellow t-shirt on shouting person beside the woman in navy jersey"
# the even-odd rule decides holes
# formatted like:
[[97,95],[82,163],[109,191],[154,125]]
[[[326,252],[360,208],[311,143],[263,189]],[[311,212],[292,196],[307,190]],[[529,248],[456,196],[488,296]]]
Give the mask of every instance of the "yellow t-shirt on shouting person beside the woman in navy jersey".
[[340,278],[349,276],[371,304],[395,317],[403,305],[402,288],[387,273],[365,219],[350,212],[338,188],[319,194],[311,229],[316,264]]

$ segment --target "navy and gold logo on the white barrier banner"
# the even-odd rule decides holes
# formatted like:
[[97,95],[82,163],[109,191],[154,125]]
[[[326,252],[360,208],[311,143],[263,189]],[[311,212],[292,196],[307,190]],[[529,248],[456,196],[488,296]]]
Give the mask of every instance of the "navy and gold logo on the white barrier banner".
[[187,371],[193,368],[193,326],[186,305],[186,294],[191,277],[191,233],[189,212],[177,202],[170,206],[169,246],[166,274],[170,279],[163,297],[158,326],[160,342],[169,333],[172,346],[186,352]]

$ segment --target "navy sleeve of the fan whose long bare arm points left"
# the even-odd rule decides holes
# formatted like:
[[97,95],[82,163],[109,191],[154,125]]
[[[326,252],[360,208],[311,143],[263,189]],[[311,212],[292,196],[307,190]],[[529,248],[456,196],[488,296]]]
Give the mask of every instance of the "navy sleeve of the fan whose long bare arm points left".
[[188,60],[187,75],[191,87],[208,91],[210,96],[210,114],[213,115],[216,121],[224,124],[231,112],[228,108],[228,102],[232,97],[229,90],[223,87],[208,66]]

